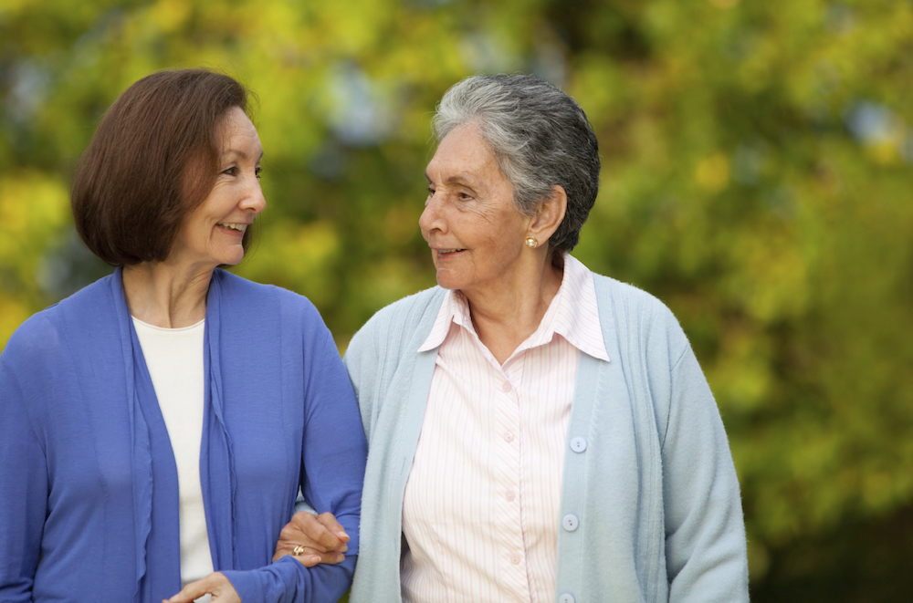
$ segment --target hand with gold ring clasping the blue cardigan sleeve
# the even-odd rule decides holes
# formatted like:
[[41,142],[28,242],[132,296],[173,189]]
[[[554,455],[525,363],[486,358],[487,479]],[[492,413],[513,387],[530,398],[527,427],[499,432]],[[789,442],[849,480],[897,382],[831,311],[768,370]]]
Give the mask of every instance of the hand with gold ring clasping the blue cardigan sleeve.
[[[273,561],[283,556],[294,556],[304,567],[314,567],[319,563],[339,563],[349,550],[346,543],[349,535],[336,521],[331,513],[313,515],[299,511],[279,533],[276,543],[276,555]],[[295,555],[296,546],[303,546],[304,551]]]

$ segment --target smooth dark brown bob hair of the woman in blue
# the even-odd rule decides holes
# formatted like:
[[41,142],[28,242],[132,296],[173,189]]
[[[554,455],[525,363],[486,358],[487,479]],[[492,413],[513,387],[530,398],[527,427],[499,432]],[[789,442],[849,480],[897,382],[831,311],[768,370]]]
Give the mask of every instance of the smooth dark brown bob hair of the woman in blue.
[[[227,112],[247,88],[206,69],[142,78],[114,101],[82,154],[70,200],[76,230],[110,265],[161,262],[184,217],[215,185]],[[250,229],[244,234],[245,250]]]

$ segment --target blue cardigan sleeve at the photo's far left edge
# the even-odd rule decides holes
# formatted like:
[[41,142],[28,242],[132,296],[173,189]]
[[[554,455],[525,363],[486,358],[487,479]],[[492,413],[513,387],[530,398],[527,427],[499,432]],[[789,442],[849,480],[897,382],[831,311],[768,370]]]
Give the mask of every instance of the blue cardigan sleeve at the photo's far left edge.
[[0,600],[31,601],[47,511],[47,463],[5,355],[0,417]]

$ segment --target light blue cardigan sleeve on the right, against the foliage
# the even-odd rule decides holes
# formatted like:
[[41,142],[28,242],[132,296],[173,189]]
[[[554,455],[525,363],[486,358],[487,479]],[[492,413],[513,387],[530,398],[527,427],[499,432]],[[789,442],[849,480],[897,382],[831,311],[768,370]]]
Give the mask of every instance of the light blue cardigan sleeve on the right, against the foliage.
[[669,601],[748,601],[745,526],[726,431],[685,334],[677,322],[670,331],[681,352],[667,377],[665,433],[659,425]]

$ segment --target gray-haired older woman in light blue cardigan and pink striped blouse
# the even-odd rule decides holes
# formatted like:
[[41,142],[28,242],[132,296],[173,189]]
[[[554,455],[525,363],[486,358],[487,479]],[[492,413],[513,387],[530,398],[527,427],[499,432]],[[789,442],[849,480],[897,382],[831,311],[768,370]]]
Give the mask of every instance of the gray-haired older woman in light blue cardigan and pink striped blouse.
[[747,601],[739,483],[685,334],[569,254],[599,184],[582,109],[477,76],[434,125],[439,286],[345,357],[369,445],[352,601]]

